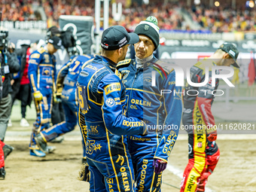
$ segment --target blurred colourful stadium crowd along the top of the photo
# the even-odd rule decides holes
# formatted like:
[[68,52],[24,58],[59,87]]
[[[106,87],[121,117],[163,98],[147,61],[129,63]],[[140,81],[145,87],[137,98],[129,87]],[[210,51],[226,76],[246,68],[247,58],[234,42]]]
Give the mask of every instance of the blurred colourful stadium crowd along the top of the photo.
[[[186,2],[186,1],[185,1]],[[256,12],[252,8],[237,6],[236,9],[221,2],[221,6],[210,8],[209,5],[191,5],[186,3],[163,1],[152,1],[148,5],[138,5],[133,2],[129,7],[123,7],[123,15],[120,21],[112,17],[112,8],[109,8],[109,24],[121,25],[127,30],[133,31],[141,20],[145,20],[150,14],[158,18],[160,29],[192,30],[191,23],[184,20],[184,13],[191,21],[200,26],[200,30],[212,32],[233,32],[233,31],[255,31]],[[94,1],[66,0],[66,1],[44,1],[44,0],[2,0],[2,20],[23,21],[41,20],[38,8],[43,8],[47,17],[48,27],[58,26],[60,15],[83,15],[94,17]],[[102,10],[103,12],[103,10]],[[183,14],[182,14],[183,13]]]

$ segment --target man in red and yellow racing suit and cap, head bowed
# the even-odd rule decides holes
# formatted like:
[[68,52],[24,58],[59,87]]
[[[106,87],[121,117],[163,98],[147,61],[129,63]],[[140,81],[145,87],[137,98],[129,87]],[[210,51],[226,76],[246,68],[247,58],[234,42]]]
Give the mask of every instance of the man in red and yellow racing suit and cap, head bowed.
[[220,151],[215,142],[217,130],[211,107],[214,100],[212,92],[218,90],[219,80],[216,79],[215,87],[212,87],[212,67],[232,65],[239,68],[236,63],[238,54],[233,44],[224,43],[212,56],[197,62],[190,69],[190,80],[202,83],[206,80],[206,67],[209,67],[209,80],[202,87],[190,84],[184,87],[182,123],[188,133],[188,163],[181,181],[181,192],[205,191],[207,179],[218,163]]

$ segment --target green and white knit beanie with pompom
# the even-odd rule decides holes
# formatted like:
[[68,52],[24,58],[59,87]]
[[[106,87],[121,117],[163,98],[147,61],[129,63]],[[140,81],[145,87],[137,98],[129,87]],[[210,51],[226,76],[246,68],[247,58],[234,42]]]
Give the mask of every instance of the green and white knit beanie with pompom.
[[154,50],[157,50],[159,45],[159,27],[157,26],[157,18],[154,16],[150,16],[147,20],[143,20],[136,26],[135,33],[138,35],[146,35],[154,43]]

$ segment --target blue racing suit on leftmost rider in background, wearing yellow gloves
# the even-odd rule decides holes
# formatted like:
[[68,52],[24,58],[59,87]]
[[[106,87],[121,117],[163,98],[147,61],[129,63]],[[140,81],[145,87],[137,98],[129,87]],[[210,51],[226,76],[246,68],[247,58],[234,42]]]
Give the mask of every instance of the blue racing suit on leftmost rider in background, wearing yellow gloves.
[[32,93],[40,91],[43,95],[41,102],[35,102],[37,118],[33,124],[30,149],[39,149],[35,143],[35,135],[45,130],[50,124],[50,115],[52,108],[52,95],[55,90],[54,75],[56,74],[55,56],[48,53],[46,47],[35,50],[29,56],[29,81],[32,87]]

